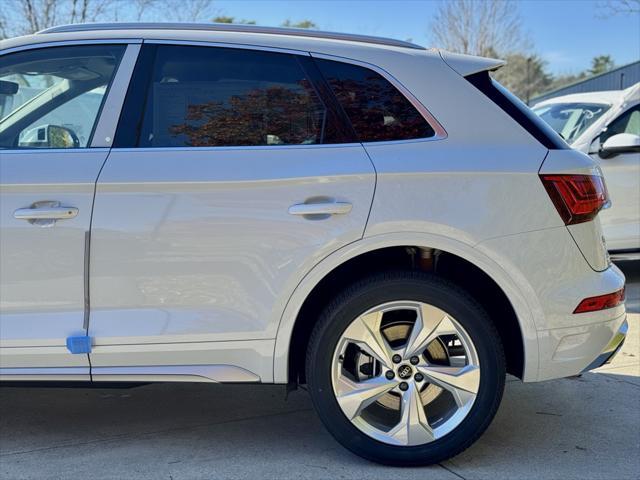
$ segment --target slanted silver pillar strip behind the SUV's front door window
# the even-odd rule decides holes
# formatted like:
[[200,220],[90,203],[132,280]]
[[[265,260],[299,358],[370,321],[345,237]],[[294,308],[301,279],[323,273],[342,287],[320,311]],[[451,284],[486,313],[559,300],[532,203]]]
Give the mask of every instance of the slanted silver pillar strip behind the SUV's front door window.
[[141,48],[141,43],[127,45],[107,90],[107,97],[98,113],[89,148],[110,147],[113,143],[120,112],[124,106],[129,82]]

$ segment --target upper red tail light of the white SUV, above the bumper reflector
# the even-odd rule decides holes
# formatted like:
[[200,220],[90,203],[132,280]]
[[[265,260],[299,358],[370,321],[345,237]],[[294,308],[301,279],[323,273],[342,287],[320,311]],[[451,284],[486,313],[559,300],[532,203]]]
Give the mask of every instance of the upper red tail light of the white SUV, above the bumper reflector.
[[540,175],[565,225],[588,222],[609,203],[604,179],[597,175]]

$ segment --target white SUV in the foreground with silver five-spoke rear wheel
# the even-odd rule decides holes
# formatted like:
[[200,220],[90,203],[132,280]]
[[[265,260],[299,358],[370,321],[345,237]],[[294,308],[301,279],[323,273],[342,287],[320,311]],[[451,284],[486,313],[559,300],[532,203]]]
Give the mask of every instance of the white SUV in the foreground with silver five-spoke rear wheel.
[[3,381],[306,384],[345,447],[418,465],[506,372],[624,339],[600,171],[500,61],[193,24],[0,48]]

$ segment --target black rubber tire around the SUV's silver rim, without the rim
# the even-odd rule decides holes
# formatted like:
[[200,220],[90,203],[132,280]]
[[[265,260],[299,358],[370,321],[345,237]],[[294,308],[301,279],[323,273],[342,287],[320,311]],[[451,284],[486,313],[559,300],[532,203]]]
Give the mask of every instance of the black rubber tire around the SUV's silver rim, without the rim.
[[[447,435],[423,445],[395,446],[366,435],[343,414],[332,387],[333,352],[344,330],[365,311],[396,300],[425,302],[452,315],[471,337],[481,365],[479,391],[467,417]],[[311,334],[306,378],[318,416],[344,447],[374,462],[419,466],[451,458],[482,435],[502,399],[505,360],[495,326],[468,293],[431,274],[392,272],[350,286],[325,308]]]

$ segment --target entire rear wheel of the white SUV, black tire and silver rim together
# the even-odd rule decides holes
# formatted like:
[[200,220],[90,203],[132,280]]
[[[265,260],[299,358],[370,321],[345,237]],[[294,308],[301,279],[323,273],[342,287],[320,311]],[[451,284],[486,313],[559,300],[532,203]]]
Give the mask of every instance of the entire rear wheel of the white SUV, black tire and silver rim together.
[[425,465],[467,448],[504,388],[500,337],[464,291],[421,272],[347,289],[312,332],[314,405],[345,447],[374,461]]

